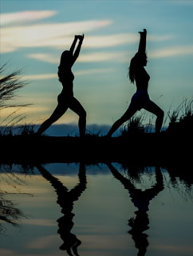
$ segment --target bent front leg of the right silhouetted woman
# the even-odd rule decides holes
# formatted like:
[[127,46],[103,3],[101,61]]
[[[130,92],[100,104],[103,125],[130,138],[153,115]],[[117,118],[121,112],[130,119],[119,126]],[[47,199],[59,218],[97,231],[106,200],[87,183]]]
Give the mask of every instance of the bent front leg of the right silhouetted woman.
[[163,123],[163,116],[164,112],[160,109],[160,106],[157,106],[156,103],[150,101],[148,104],[144,107],[145,110],[148,110],[149,112],[156,114],[156,134],[160,133],[162,123]]

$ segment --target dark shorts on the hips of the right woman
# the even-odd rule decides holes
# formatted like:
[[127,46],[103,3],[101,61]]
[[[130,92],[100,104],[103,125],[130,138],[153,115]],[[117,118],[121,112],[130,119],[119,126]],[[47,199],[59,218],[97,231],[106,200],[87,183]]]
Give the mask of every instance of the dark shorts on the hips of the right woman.
[[137,90],[136,94],[132,96],[132,101],[129,107],[132,107],[136,110],[141,110],[148,105],[149,102],[152,102],[149,98],[147,90]]

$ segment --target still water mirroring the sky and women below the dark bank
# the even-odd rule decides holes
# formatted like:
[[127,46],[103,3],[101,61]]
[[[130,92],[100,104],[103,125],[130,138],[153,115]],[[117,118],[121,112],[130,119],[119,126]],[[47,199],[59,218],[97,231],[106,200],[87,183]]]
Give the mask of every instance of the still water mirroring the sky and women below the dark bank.
[[0,254],[193,255],[191,170],[2,165]]

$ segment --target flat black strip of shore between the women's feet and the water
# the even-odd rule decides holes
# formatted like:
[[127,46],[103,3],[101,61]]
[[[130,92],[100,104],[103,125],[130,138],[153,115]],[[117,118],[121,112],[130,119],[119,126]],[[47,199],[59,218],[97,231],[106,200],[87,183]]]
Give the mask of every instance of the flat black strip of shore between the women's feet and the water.
[[2,136],[0,163],[128,162],[131,165],[188,165],[190,134],[135,134],[127,137]]

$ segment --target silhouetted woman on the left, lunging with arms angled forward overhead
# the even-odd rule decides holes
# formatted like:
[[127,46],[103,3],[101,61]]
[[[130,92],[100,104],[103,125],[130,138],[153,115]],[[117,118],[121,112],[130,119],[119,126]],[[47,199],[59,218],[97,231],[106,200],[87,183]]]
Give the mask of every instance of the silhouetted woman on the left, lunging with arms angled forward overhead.
[[[80,136],[85,135],[85,126],[86,126],[86,112],[81,106],[81,103],[77,101],[77,98],[73,97],[73,79],[74,75],[71,70],[74,62],[76,62],[78,55],[81,50],[81,44],[84,39],[83,35],[75,35],[75,38],[73,40],[73,44],[70,47],[70,50],[65,50],[61,54],[61,63],[60,66],[58,66],[58,77],[59,81],[61,82],[63,89],[61,91],[61,94],[57,97],[57,108],[53,111],[53,114],[41,124],[39,130],[37,130],[37,134],[42,134],[49,126],[53,124],[53,122],[56,122],[57,119],[61,118],[63,114],[65,114],[65,111],[69,108],[70,110],[73,110],[76,114],[79,115],[79,132]],[[79,40],[77,50],[75,50],[74,54],[74,48],[76,46],[77,40]]]

